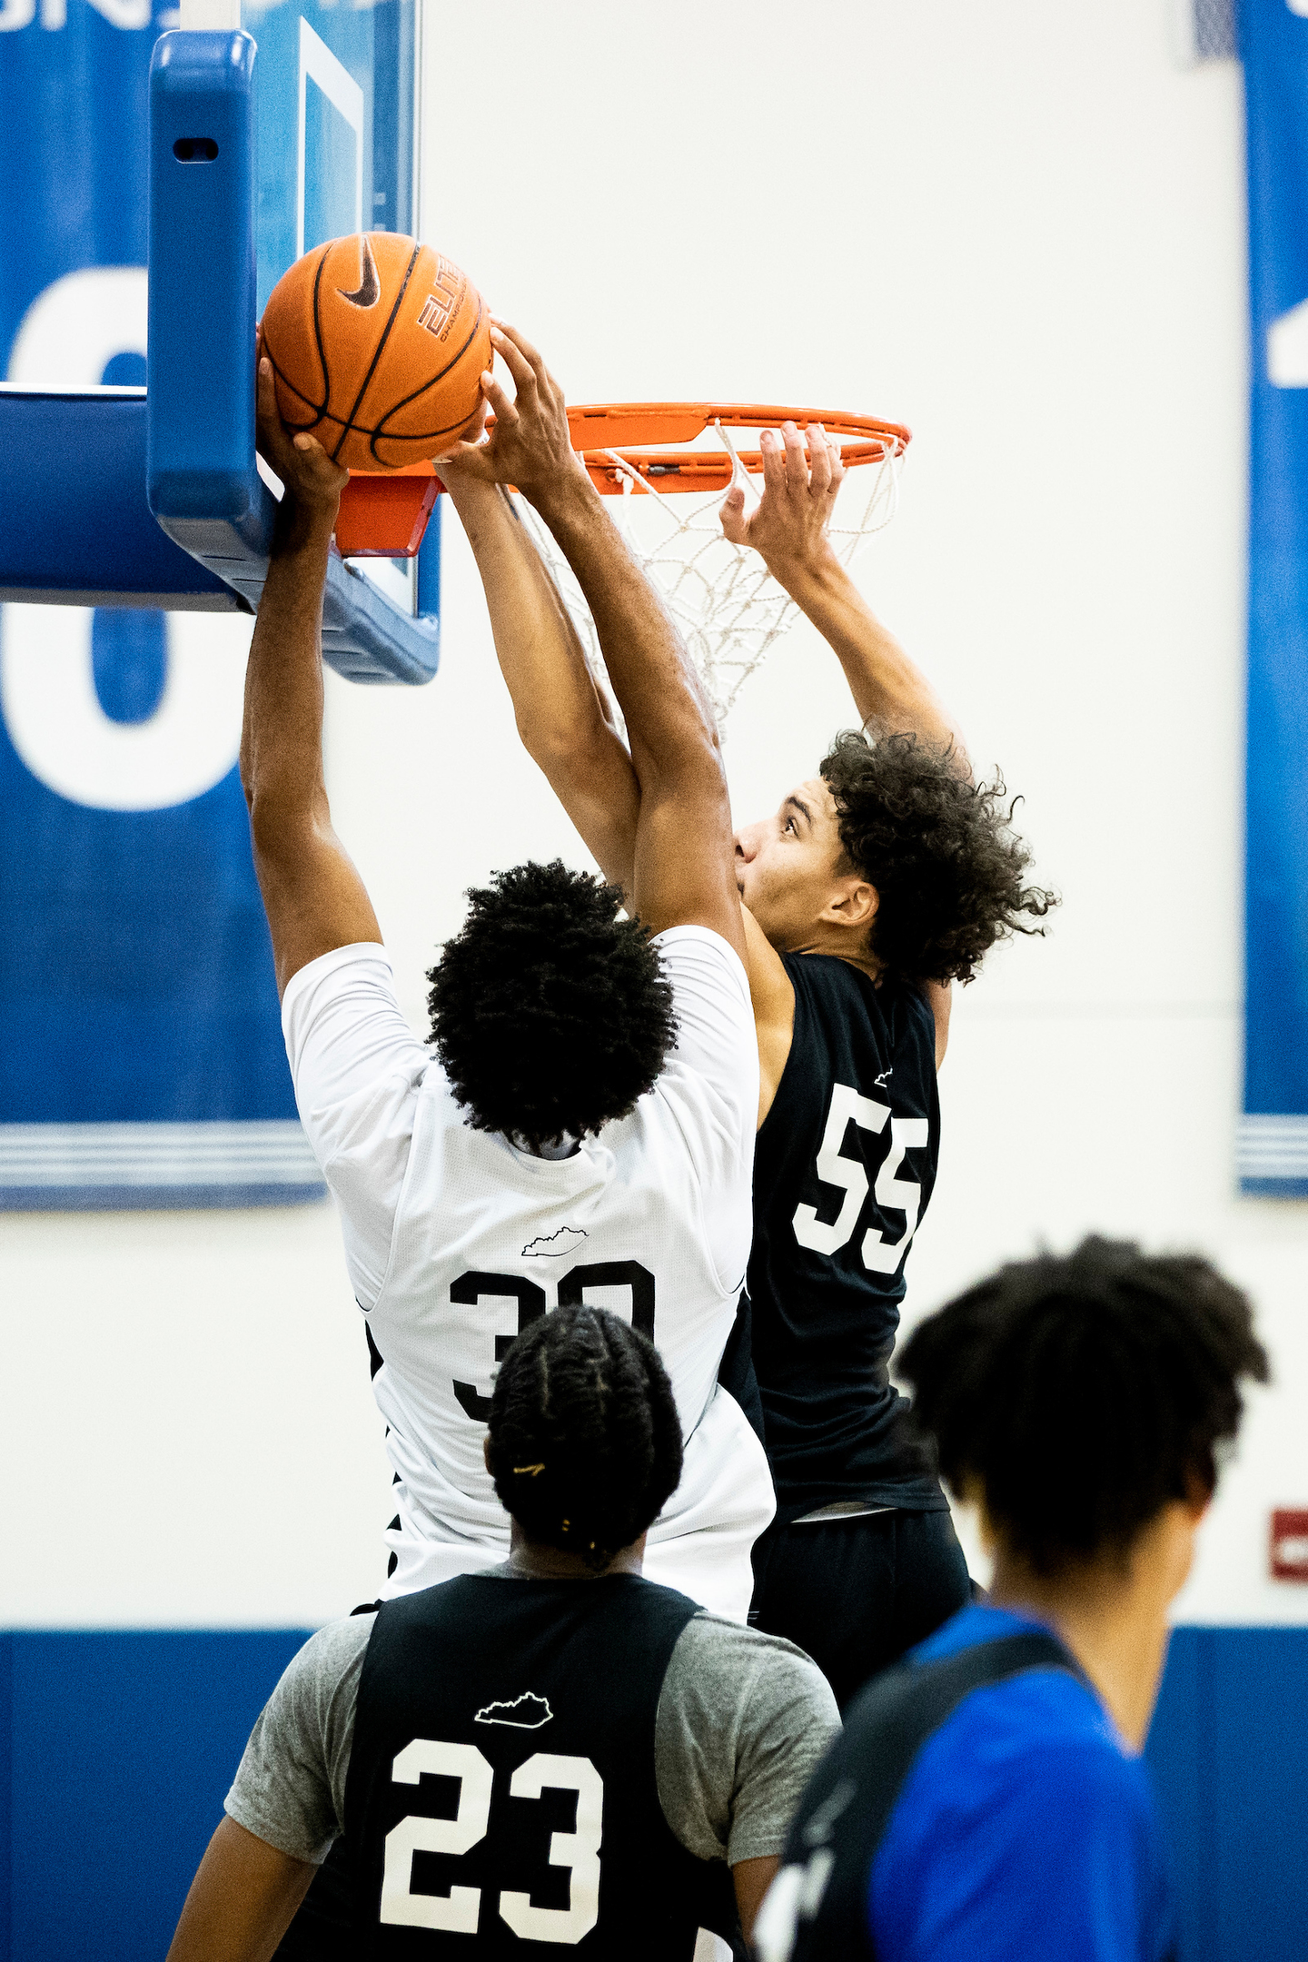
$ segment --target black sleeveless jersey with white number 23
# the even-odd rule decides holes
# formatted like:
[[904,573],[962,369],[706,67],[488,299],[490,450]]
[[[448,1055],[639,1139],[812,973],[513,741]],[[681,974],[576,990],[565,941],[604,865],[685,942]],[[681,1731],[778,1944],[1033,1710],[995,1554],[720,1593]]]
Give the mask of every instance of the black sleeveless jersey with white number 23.
[[635,1575],[380,1607],[345,1781],[361,1958],[690,1962],[726,1870],[663,1817],[655,1717],[696,1613]]

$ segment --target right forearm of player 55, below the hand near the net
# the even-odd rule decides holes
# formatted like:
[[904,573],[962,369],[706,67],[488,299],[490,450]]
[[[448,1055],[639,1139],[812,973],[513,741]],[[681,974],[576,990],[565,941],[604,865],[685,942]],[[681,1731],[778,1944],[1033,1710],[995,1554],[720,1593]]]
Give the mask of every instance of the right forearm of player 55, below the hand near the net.
[[965,755],[957,722],[833,553],[808,565],[769,569],[835,653],[863,724],[884,732],[914,730]]

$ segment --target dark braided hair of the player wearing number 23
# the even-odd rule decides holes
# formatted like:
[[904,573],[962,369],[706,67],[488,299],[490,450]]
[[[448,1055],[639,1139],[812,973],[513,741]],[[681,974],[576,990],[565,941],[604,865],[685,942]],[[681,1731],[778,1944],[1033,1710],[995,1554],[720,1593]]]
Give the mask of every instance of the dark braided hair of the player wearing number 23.
[[608,1309],[555,1309],[512,1344],[486,1462],[529,1540],[600,1574],[680,1483],[680,1419],[653,1342]]

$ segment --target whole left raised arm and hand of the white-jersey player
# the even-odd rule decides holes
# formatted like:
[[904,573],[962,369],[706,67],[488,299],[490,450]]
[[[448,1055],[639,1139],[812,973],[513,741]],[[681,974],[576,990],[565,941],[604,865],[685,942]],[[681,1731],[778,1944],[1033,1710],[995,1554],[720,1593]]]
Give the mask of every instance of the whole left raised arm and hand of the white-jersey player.
[[322,773],[322,589],[347,471],[282,426],[259,361],[259,449],[282,479],[273,559],[245,669],[241,783],[273,932],[277,991],[308,961],[380,940],[377,914],[331,830]]

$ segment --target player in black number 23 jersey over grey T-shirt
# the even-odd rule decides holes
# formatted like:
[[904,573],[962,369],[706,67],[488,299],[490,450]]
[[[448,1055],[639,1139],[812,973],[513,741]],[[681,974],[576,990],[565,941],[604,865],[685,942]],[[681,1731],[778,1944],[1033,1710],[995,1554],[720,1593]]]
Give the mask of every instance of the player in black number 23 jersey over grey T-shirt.
[[659,1356],[602,1309],[537,1318],[500,1366],[484,1450],[508,1564],[300,1650],[171,1962],[263,1962],[337,1834],[357,1958],[690,1962],[700,1927],[739,1913],[749,1933],[839,1723],[788,1642],[641,1579],[682,1462]]

